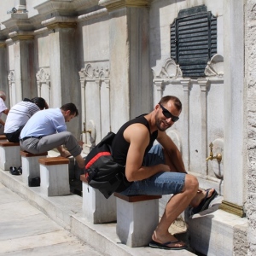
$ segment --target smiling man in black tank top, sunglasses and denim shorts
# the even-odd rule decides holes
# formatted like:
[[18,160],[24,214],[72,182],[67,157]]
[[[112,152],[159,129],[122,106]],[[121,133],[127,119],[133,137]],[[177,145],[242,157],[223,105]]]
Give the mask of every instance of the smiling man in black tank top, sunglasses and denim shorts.
[[[125,166],[130,186],[121,184],[116,192],[123,195],[173,195],[155,227],[150,247],[184,249],[183,241],[171,235],[170,225],[189,205],[193,213],[209,206],[215,189],[199,189],[195,176],[188,174],[182,154],[166,134],[178,119],[182,103],[176,96],[164,96],[154,110],[122,125],[113,139],[113,160]],[[157,140],[159,144],[154,145]],[[153,146],[154,145],[154,146]]]

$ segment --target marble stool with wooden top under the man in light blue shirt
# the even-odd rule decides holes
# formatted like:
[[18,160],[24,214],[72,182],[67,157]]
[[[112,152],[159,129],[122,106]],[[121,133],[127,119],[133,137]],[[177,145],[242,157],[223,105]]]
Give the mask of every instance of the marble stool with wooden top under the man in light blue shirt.
[[20,150],[21,166],[22,166],[22,180],[28,185],[29,179],[33,177],[40,177],[40,166],[38,160],[45,158],[48,152],[41,154],[31,154]]

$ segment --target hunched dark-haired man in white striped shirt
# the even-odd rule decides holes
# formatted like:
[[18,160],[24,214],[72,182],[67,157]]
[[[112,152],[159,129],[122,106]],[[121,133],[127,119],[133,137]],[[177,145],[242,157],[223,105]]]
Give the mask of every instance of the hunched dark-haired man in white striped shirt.
[[11,143],[20,142],[20,131],[26,125],[28,119],[39,110],[49,108],[44,98],[35,97],[31,100],[24,99],[23,101],[15,104],[9,110],[8,116],[4,125],[4,134]]

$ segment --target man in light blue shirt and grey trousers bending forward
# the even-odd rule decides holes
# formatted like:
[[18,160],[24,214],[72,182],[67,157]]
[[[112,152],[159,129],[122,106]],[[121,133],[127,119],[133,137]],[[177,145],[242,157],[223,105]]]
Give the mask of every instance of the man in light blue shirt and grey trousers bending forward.
[[[40,154],[57,148],[61,156],[73,155],[79,168],[84,168],[81,143],[67,131],[65,122],[79,115],[73,103],[61,108],[49,108],[35,113],[20,132],[20,148],[32,154]],[[65,148],[63,148],[65,145]]]

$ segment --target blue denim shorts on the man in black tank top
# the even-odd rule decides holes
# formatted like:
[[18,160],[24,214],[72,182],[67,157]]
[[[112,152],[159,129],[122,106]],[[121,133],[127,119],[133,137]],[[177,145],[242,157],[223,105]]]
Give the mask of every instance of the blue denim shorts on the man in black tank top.
[[[154,145],[143,160],[143,166],[165,164],[165,155],[160,144]],[[131,184],[121,192],[123,195],[171,195],[181,193],[185,182],[183,172],[158,172],[154,176]]]

